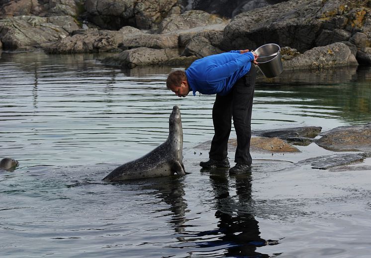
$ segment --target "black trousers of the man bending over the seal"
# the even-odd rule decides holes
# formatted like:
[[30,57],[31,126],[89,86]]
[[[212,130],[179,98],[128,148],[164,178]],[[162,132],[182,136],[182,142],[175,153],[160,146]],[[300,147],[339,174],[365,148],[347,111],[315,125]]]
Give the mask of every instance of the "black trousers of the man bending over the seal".
[[252,64],[250,71],[224,96],[216,94],[212,108],[214,137],[211,142],[209,158],[223,160],[228,155],[228,139],[233,125],[237,135],[235,163],[252,163],[250,155],[251,113],[255,89],[256,68]]

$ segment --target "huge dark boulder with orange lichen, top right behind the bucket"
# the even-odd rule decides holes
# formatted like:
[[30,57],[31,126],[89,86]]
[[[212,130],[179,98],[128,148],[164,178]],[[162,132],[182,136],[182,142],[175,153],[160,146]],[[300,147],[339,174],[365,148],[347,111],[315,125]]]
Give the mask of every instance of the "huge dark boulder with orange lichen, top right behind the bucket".
[[254,49],[277,43],[302,53],[315,46],[348,40],[360,30],[368,33],[369,17],[366,1],[290,0],[233,17],[224,30],[221,49]]

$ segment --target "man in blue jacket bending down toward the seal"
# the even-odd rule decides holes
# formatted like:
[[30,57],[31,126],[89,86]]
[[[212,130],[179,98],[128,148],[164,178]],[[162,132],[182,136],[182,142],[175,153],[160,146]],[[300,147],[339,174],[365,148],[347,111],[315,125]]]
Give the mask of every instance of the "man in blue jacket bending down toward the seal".
[[214,137],[209,160],[201,162],[203,168],[229,168],[228,139],[233,124],[237,135],[236,166],[230,173],[251,169],[250,155],[251,113],[253,106],[257,56],[246,50],[207,56],[194,61],[186,71],[169,74],[166,86],[179,97],[190,91],[216,94],[212,108]]

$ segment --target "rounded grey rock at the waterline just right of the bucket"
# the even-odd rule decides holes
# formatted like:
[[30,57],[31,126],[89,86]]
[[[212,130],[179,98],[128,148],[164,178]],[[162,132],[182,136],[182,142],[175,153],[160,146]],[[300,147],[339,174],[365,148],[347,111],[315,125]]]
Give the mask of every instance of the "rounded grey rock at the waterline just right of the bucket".
[[321,69],[356,66],[358,62],[350,48],[341,42],[315,47],[290,60],[283,60],[283,70]]

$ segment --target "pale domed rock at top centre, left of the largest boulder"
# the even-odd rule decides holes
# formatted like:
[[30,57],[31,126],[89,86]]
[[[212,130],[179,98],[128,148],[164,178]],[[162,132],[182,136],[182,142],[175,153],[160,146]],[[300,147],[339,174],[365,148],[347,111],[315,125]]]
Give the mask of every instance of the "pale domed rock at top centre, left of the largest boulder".
[[159,24],[159,33],[169,33],[177,30],[186,30],[194,27],[225,23],[225,20],[216,15],[200,10],[186,11],[179,16],[163,19]]

